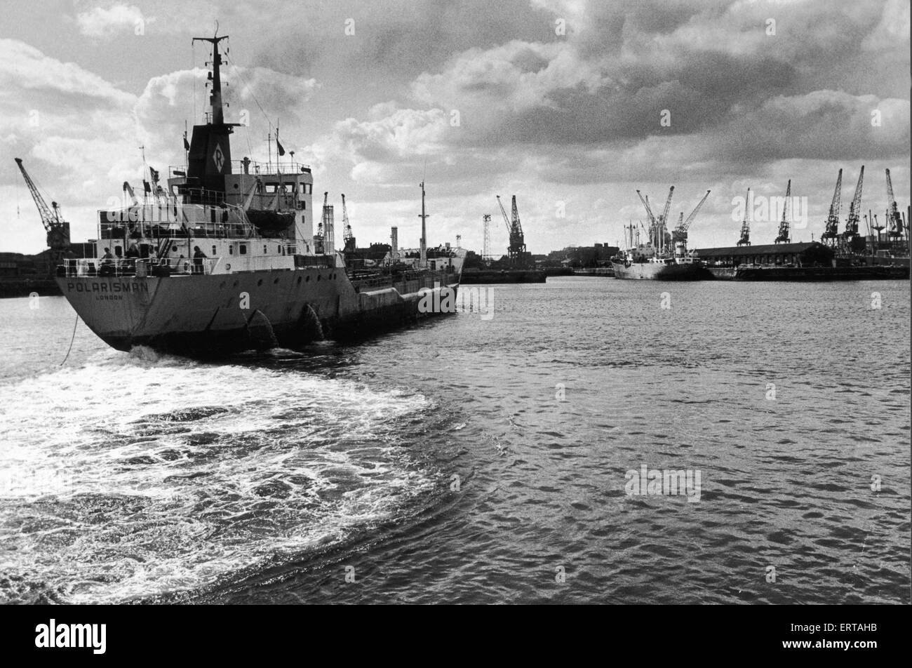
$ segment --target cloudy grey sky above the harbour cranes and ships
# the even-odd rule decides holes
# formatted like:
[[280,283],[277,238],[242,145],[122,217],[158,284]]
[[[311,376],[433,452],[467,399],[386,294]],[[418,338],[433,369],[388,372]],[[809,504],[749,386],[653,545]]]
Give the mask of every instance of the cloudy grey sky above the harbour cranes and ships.
[[[191,37],[216,20],[231,37],[228,120],[249,120],[234,157],[264,159],[279,122],[315,196],[346,193],[360,244],[399,225],[417,245],[422,177],[430,243],[481,250],[493,214],[505,250],[494,196],[516,194],[534,253],[614,244],[645,220],[637,189],[658,207],[672,184],[675,219],[712,191],[697,247],[737,241],[748,187],[776,196],[793,180],[808,207],[796,240],[820,235],[840,168],[844,219],[862,164],[865,211],[882,218],[885,168],[909,202],[908,0],[37,5],[2,0],[0,250],[44,247],[14,157],[74,240],[140,183],[140,146],[162,172],[182,161],[205,101]],[[770,243],[778,224],[758,213],[752,239]]]

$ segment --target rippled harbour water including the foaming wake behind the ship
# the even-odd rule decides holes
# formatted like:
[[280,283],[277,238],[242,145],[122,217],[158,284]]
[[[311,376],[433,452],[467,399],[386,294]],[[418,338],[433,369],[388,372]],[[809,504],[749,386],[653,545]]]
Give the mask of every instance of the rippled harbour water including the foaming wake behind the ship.
[[493,290],[223,364],[0,301],[0,600],[907,600],[908,283]]

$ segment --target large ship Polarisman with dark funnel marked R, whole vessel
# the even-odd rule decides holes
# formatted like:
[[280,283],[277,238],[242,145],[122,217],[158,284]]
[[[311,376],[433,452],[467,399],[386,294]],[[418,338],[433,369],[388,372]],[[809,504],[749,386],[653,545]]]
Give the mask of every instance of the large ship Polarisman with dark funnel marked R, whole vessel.
[[194,37],[212,45],[211,110],[184,137],[187,163],[170,168],[167,188],[150,169],[141,202],[124,183],[125,205],[98,213],[94,256],[57,267],[88,328],[118,350],[211,356],[358,337],[453,303],[465,251],[427,247],[424,183],[420,247],[391,247],[366,266],[336,251],[326,201],[314,233],[311,170],[293,152],[279,162],[277,130],[276,162],[232,160],[239,124],[224,118],[226,37]]

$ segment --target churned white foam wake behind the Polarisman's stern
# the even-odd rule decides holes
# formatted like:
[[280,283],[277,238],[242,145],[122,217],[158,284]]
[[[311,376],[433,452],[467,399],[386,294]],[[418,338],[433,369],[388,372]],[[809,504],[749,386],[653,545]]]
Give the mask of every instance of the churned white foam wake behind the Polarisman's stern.
[[150,350],[0,384],[0,601],[205,588],[396,517],[434,485],[397,433],[427,408]]

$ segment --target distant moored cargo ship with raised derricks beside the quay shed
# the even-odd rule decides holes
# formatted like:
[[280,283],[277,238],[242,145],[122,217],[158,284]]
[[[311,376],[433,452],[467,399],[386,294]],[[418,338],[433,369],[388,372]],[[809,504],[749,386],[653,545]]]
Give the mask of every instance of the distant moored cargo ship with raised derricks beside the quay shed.
[[646,208],[649,220],[645,239],[640,236],[640,228],[634,224],[625,225],[624,235],[627,249],[621,251],[612,259],[615,277],[626,279],[648,280],[702,280],[712,278],[710,272],[702,263],[693,257],[688,250],[688,229],[700,207],[710,196],[706,191],[700,203],[690,212],[685,219],[684,212],[679,215],[678,225],[668,232],[668,212],[671,209],[671,198],[675,187],[668,190],[668,199],[665,208],[658,216],[653,214],[649,206],[648,196],[644,197],[637,190],[640,201]]

